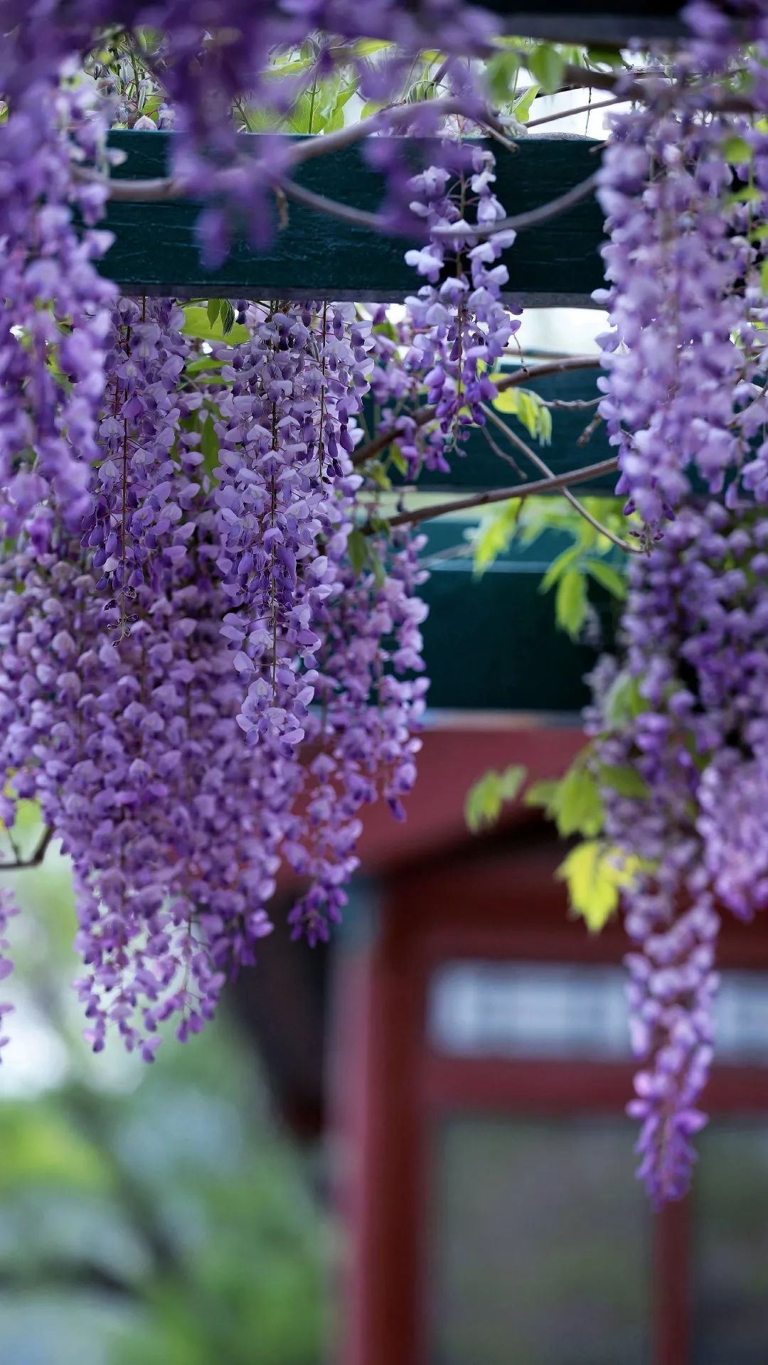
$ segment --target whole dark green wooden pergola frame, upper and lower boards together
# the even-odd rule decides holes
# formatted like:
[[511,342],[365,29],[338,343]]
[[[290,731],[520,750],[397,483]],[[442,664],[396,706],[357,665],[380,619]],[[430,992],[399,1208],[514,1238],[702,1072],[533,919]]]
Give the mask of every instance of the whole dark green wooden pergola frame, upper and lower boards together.
[[[525,30],[523,30],[525,31]],[[108,206],[105,227],[115,233],[102,269],[130,295],[204,298],[332,298],[357,302],[402,300],[418,287],[418,277],[404,262],[407,239],[338,221],[305,203],[283,205],[265,195],[272,216],[266,244],[249,244],[239,225],[225,263],[206,270],[201,263],[195,222],[201,202],[159,197],[133,202],[126,182],[163,182],[169,175],[174,134],[113,132],[111,145],[124,154],[113,175],[120,197]],[[292,143],[299,139],[291,138]],[[320,141],[320,139],[318,139]],[[260,135],[242,136],[243,154],[258,160]],[[497,192],[515,214],[526,214],[579,187],[599,165],[601,143],[573,135],[521,139],[517,150],[493,143]],[[429,164],[430,143],[409,142],[414,168]],[[323,157],[307,157],[295,172],[297,184],[310,194],[343,201],[374,212],[384,198],[384,179],[361,152],[361,145],[342,147]],[[280,221],[282,220],[282,221]],[[590,307],[592,292],[603,284],[600,244],[603,216],[589,192],[556,217],[521,232],[504,254],[510,270],[508,298],[527,307]],[[544,366],[547,369],[547,366]],[[530,388],[548,401],[589,401],[596,396],[596,369],[552,367],[532,379]],[[547,452],[555,474],[578,471],[605,460],[612,452],[600,427],[588,450],[578,446],[589,415],[563,410],[555,419],[555,444]],[[482,433],[473,431],[465,459],[454,461],[451,475],[426,474],[420,489],[473,494],[510,480]],[[586,491],[609,493],[614,475],[586,485]],[[426,523],[428,557],[433,575],[425,597],[430,616],[425,625],[426,665],[433,678],[430,703],[437,708],[518,710],[571,713],[586,700],[582,682],[594,662],[594,651],[574,646],[558,633],[552,605],[538,591],[553,557],[566,543],[553,536],[534,553],[512,550],[502,556],[495,572],[478,583],[471,561],[454,551],[467,523]],[[447,550],[451,554],[447,554]],[[515,620],[515,658],[510,659],[499,622]],[[461,648],[458,643],[461,642]],[[466,667],[466,659],[473,667]]]

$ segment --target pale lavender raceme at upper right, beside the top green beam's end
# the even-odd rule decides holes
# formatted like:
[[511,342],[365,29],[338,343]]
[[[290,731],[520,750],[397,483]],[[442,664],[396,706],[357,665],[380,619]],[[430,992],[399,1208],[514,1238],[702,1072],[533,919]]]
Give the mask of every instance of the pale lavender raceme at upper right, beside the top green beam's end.
[[612,330],[603,341],[600,414],[619,449],[618,491],[659,534],[697,472],[712,493],[746,455],[735,399],[752,355],[738,344],[743,281],[757,255],[726,210],[732,169],[726,120],[653,111],[615,121],[600,171],[608,217],[603,248]]

